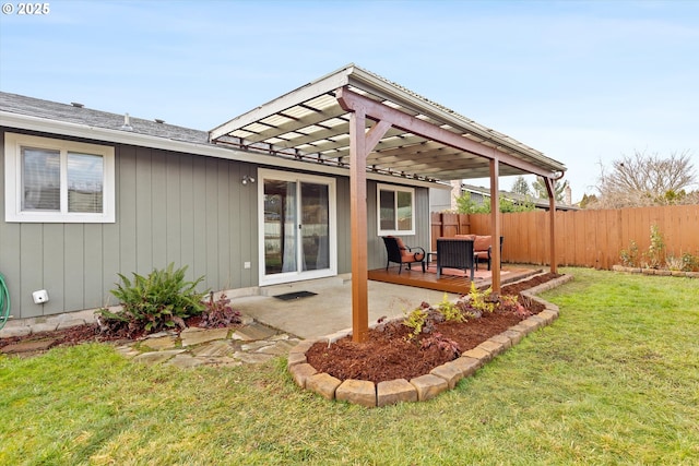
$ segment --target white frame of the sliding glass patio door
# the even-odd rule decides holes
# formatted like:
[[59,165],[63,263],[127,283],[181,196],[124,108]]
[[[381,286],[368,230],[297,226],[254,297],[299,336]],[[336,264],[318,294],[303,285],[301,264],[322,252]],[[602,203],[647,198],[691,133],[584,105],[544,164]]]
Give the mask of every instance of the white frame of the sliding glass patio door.
[[[300,184],[304,182],[324,184],[328,187],[328,226],[329,226],[329,267],[312,271],[301,271],[300,265],[294,272],[281,272],[275,274],[266,274],[265,263],[265,234],[264,234],[264,181],[277,180],[277,181],[291,181],[296,182],[296,208],[299,211],[301,207]],[[260,168],[258,170],[258,231],[259,236],[259,283],[260,286],[279,285],[283,283],[299,282],[313,278],[324,278],[337,275],[337,202],[336,202],[336,182],[332,177],[322,177],[317,175],[297,174],[293,171],[280,171],[266,168]],[[300,212],[300,211],[299,211]],[[298,213],[298,212],[297,212]],[[300,215],[299,215],[300,218]],[[299,219],[300,222],[300,219]],[[299,236],[300,238],[300,236]],[[299,242],[300,244],[301,242]],[[301,264],[300,255],[303,250],[297,248],[297,264]]]

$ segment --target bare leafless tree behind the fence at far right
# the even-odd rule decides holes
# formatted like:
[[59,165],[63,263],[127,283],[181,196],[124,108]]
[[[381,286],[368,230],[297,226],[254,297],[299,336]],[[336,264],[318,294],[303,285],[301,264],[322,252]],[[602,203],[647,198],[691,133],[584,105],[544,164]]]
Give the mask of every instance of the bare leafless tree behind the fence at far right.
[[644,205],[691,203],[696,193],[687,190],[696,182],[690,152],[672,153],[663,158],[657,153],[635,151],[612,163],[606,171],[600,163],[600,196],[594,207],[619,208]]

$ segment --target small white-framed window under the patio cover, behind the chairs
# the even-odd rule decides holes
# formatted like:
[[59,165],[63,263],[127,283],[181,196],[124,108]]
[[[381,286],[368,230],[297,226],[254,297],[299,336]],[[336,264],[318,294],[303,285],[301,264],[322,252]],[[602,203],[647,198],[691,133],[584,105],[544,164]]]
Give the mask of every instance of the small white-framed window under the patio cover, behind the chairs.
[[379,236],[415,235],[415,191],[388,184],[377,190]]

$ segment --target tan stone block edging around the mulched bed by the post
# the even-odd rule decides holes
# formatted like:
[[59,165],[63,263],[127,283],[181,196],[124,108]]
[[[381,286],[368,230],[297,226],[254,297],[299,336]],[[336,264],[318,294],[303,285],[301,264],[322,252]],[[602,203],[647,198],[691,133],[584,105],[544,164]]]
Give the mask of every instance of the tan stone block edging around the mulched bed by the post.
[[316,368],[308,363],[306,351],[311,346],[318,342],[331,345],[337,339],[350,335],[351,330],[337,332],[315,340],[300,342],[289,350],[287,369],[298,386],[316,392],[329,401],[337,399],[369,408],[402,402],[425,402],[447,390],[452,390],[461,379],[473,375],[486,362],[520,343],[526,335],[549,325],[558,319],[558,307],[534,296],[534,294],[553,289],[572,279],[572,275],[564,275],[522,291],[522,295],[541,302],[546,309],[488,338],[475,348],[464,351],[461,357],[453,361],[438,366],[429,373],[410,381],[395,379],[375,384],[366,380],[347,379],[343,382],[328,373],[318,372]]

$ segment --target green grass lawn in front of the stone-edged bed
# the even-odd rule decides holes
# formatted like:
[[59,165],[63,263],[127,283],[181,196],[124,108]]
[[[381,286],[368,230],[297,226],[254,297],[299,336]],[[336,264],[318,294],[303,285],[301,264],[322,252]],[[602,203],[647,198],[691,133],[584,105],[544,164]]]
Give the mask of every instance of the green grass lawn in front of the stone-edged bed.
[[457,390],[366,409],[264,366],[0,359],[0,464],[698,464],[699,280],[566,268],[560,318]]

